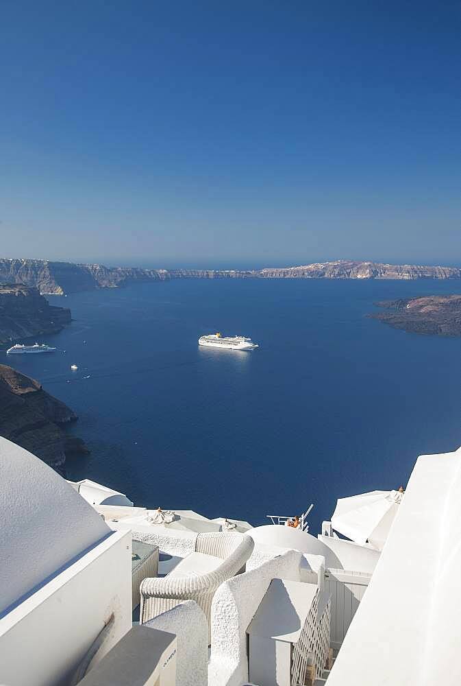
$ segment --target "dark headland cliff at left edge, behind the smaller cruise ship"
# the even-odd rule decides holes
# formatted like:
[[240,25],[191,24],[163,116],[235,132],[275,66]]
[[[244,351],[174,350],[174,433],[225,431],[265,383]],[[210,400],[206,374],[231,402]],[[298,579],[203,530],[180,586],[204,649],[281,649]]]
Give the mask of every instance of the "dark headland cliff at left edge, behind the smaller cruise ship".
[[53,307],[36,287],[0,285],[0,343],[61,331],[71,311]]

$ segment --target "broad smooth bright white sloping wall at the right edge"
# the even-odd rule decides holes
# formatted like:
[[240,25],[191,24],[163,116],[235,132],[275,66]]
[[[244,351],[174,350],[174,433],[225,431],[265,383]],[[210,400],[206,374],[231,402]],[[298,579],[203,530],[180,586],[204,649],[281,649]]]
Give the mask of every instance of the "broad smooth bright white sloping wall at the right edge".
[[461,683],[461,449],[421,456],[328,686]]

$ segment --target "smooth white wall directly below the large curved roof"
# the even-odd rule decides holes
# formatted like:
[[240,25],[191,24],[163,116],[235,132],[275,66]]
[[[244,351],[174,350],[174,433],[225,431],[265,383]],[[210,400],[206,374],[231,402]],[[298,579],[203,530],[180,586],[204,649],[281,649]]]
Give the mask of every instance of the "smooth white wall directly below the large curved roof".
[[130,532],[110,534],[0,619],[0,684],[68,684],[112,613],[96,662],[132,626]]

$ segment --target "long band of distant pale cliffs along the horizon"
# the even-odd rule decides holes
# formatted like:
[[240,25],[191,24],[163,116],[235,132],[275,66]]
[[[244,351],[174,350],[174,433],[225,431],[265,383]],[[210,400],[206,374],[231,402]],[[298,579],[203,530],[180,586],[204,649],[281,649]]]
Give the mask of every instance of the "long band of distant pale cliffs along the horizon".
[[169,279],[461,279],[461,268],[337,260],[260,270],[141,269],[35,259],[0,258],[0,283],[23,283],[63,295]]

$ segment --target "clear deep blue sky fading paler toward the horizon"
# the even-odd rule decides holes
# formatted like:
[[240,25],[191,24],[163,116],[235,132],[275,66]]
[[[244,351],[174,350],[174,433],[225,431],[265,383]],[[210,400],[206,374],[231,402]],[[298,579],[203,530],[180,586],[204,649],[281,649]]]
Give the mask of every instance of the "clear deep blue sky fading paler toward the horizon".
[[458,1],[1,14],[1,256],[461,262]]

